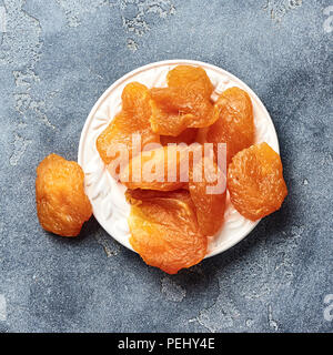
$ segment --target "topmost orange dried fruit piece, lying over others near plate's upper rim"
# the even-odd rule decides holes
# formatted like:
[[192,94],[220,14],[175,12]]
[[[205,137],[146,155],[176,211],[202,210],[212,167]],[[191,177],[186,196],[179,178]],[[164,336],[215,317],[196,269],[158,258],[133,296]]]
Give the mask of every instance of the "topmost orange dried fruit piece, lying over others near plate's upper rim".
[[168,88],[151,89],[151,126],[155,133],[176,136],[186,128],[204,128],[216,119],[213,85],[199,67],[179,65],[168,73]]

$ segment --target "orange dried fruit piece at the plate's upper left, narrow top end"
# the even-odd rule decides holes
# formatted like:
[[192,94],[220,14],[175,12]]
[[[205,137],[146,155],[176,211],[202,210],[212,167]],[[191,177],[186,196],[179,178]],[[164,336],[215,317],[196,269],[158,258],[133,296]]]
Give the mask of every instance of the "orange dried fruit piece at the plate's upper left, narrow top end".
[[[145,144],[159,143],[160,136],[151,130],[151,94],[139,82],[128,84],[122,92],[122,110],[99,135],[97,149],[103,162],[111,164],[110,172],[118,179],[119,165],[135,154]],[[133,133],[140,134],[140,141],[133,142]],[[139,138],[139,135],[137,136]]]

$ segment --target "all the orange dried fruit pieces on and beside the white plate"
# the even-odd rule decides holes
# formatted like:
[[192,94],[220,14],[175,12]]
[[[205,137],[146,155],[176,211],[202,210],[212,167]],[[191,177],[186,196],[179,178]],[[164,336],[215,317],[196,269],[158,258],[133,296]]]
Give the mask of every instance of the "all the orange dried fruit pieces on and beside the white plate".
[[[245,91],[230,88],[213,102],[208,74],[190,65],[175,67],[167,81],[167,88],[128,84],[97,149],[128,187],[132,247],[147,264],[174,274],[205,256],[208,239],[224,222],[226,186],[234,207],[252,221],[279,210],[287,191],[279,154],[266,143],[254,145]],[[224,164],[219,143],[226,144]],[[77,235],[91,215],[80,166],[48,156],[38,168],[37,205],[46,230]]]

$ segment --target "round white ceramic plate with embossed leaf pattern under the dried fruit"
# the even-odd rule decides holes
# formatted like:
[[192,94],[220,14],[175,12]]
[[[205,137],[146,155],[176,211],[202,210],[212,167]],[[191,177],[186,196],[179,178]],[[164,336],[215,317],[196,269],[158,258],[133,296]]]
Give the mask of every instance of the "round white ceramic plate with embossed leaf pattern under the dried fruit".
[[[117,183],[107,171],[97,151],[95,141],[121,110],[121,93],[128,83],[139,81],[148,88],[165,87],[167,73],[179,64],[203,68],[215,88],[212,95],[214,100],[231,87],[245,90],[253,103],[255,142],[268,142],[279,153],[276,132],[265,106],[245,83],[223,69],[192,60],[169,60],[141,67],[122,77],[102,94],[91,110],[81,134],[78,161],[85,173],[85,193],[91,201],[95,219],[112,237],[130,250],[133,248],[129,243],[127,219],[130,206],[124,197],[125,187]],[[220,233],[210,240],[206,257],[222,253],[239,243],[258,223],[259,221],[252,222],[240,215],[228,196],[225,223]]]

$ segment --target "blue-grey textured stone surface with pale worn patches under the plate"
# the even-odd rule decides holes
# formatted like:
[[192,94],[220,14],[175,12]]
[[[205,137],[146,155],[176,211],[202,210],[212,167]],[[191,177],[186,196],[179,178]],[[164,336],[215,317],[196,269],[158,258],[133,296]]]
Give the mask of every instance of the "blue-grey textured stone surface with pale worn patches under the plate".
[[[0,0],[0,332],[332,332],[331,4]],[[77,240],[43,232],[34,169],[51,152],[75,160],[114,80],[175,58],[224,68],[259,94],[290,194],[232,250],[165,276],[93,220]]]

